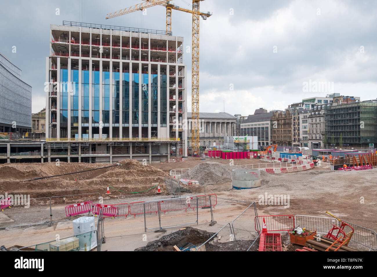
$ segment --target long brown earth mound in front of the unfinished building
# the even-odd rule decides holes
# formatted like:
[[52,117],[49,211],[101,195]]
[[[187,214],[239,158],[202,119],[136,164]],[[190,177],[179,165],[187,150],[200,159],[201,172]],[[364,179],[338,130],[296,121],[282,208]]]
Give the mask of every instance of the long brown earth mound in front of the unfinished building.
[[[65,194],[100,192],[106,193],[111,188],[112,196],[128,193],[155,193],[152,183],[159,183],[164,188],[164,171],[151,165],[140,164],[136,160],[120,161],[118,166],[87,163],[20,163],[0,165],[0,192],[30,194],[31,197],[51,197]],[[46,179],[25,181],[39,177],[54,176],[77,171],[91,170]],[[166,191],[166,190],[163,190]]]

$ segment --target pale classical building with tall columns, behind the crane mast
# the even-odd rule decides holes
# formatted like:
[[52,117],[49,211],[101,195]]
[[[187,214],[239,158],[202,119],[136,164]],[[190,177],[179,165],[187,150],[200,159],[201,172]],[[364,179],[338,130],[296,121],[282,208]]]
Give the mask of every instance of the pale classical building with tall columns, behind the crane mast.
[[[191,113],[187,113],[189,129],[188,141],[191,139]],[[224,136],[234,136],[236,132],[237,118],[229,113],[201,113],[199,112],[200,121],[200,146],[222,146],[224,145]]]

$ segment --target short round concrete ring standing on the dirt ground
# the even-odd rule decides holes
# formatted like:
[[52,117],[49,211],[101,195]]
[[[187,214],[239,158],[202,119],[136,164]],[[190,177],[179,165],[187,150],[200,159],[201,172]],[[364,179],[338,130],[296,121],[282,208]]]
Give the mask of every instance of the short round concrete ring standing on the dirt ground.
[[232,188],[242,190],[261,186],[261,171],[259,169],[237,168],[232,170]]

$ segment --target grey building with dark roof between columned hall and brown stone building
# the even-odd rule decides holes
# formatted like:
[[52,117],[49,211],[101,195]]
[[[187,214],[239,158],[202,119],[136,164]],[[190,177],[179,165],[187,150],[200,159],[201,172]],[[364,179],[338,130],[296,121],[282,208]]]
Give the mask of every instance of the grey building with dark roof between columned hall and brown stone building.
[[258,147],[271,144],[271,119],[274,112],[259,108],[241,123],[241,136],[257,136]]

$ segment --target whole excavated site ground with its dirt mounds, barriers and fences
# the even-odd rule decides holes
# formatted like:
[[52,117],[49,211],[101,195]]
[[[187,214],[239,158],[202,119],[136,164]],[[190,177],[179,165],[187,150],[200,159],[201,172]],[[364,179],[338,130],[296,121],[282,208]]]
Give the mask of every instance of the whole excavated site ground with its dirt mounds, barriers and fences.
[[[132,159],[0,165],[0,190],[14,197],[2,201],[0,244],[21,251],[377,249],[376,169],[368,164],[375,155],[365,158],[365,170],[344,171],[329,169],[330,161],[314,165],[306,155],[294,160],[269,154],[155,166]],[[256,178],[239,181],[239,170]],[[242,187],[244,182],[253,185]],[[92,229],[74,234],[75,221],[87,218]],[[304,235],[297,235],[297,227]],[[66,250],[52,250],[56,234],[66,238]],[[83,246],[93,238],[90,249]]]

